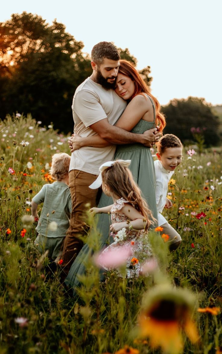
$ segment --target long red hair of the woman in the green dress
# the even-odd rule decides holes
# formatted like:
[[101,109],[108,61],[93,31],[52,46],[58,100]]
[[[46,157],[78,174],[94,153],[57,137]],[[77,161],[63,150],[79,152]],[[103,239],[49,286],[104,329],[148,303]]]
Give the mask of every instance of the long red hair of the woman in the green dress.
[[147,95],[153,99],[156,107],[155,124],[159,125],[160,131],[162,131],[166,126],[166,120],[164,114],[160,112],[161,107],[159,101],[156,99],[156,97],[152,95],[152,93],[150,93],[148,86],[143,81],[140,74],[133,66],[133,64],[128,62],[127,60],[121,59],[118,73],[129,76],[129,78],[133,80],[135,84],[135,91],[132,95],[132,98],[135,97],[136,95],[141,95],[141,93],[147,93]]

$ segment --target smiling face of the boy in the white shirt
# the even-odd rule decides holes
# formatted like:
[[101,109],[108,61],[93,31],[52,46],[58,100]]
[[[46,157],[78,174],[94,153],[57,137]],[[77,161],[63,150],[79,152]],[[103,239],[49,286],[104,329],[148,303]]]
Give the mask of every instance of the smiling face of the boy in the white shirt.
[[182,148],[166,148],[161,155],[156,153],[158,160],[168,171],[174,171],[178,165],[180,165],[182,160]]

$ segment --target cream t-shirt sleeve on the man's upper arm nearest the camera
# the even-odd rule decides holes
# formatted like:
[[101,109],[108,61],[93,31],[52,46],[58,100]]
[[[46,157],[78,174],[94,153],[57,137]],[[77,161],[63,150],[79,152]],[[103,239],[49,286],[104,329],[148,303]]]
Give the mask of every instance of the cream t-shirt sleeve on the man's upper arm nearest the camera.
[[89,90],[81,90],[76,94],[73,100],[73,110],[86,127],[107,118],[98,96]]

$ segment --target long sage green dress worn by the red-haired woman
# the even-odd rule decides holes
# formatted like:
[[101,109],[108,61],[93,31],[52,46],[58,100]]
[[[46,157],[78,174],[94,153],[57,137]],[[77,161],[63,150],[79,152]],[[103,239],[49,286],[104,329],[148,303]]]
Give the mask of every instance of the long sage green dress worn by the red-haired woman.
[[[132,133],[143,134],[146,130],[153,129],[155,127],[155,105],[151,98],[150,101],[153,105],[154,121],[147,122],[141,119],[132,129]],[[142,144],[118,145],[116,147],[114,156],[114,160],[117,159],[131,160],[129,169],[132,172],[134,181],[137,182],[141,189],[143,198],[147,201],[149,209],[152,211],[154,218],[157,219],[155,197],[155,168],[150,149],[144,147]],[[113,204],[113,199],[102,193],[98,207],[102,208],[111,204]],[[101,249],[107,245],[107,240],[109,238],[109,226],[109,215],[100,214],[97,230],[101,237]],[[110,241],[112,242],[112,240]],[[91,254],[91,250],[89,246],[85,244],[69,270],[69,274],[67,275],[65,283],[68,288],[73,287],[73,293],[75,293],[75,288],[81,285],[79,275],[81,276],[85,273],[84,259],[87,259],[89,254]]]

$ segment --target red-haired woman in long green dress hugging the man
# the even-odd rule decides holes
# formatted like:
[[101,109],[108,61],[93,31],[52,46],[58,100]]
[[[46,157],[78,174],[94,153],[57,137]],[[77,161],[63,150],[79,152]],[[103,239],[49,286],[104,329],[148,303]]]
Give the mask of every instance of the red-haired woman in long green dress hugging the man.
[[[149,129],[159,126],[159,131],[163,131],[166,122],[164,115],[160,112],[158,100],[150,93],[146,83],[142,80],[132,63],[126,60],[120,60],[120,67],[116,78],[116,94],[128,102],[127,107],[116,126],[131,131],[132,133],[143,134]],[[84,146],[105,147],[111,145],[99,135],[80,137],[75,135],[70,138],[73,149],[79,149]],[[133,179],[141,189],[143,198],[147,201],[150,211],[157,219],[156,198],[155,198],[155,169],[150,148],[142,144],[121,144],[117,145],[114,160],[131,160],[129,169],[132,172]],[[105,162],[105,161],[104,161]],[[95,186],[98,188],[99,186]],[[104,207],[112,204],[110,199],[104,193],[102,194],[98,207]],[[106,245],[109,237],[109,215],[101,214],[97,225],[98,232],[101,234],[101,244]],[[86,244],[76,257],[66,278],[67,285],[79,285],[78,276],[84,272],[82,264],[83,256],[89,252],[89,246]]]

